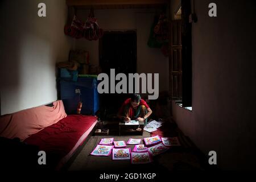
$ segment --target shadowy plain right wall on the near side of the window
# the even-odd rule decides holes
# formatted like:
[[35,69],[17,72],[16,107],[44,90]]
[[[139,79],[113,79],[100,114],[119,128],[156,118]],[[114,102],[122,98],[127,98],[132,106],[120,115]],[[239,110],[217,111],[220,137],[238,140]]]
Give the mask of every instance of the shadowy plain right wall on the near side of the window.
[[[195,0],[192,24],[192,108],[172,103],[180,129],[221,169],[256,168],[255,1]],[[246,15],[246,18],[245,16]]]

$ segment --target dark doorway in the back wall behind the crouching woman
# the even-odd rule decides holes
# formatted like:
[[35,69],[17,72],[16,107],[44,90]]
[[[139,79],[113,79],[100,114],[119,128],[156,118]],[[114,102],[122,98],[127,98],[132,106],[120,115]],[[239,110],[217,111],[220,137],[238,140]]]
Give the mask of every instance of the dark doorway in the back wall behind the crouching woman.
[[[137,35],[136,31],[108,31],[99,42],[100,67],[110,78],[110,69],[118,73],[137,72]],[[115,81],[115,84],[118,81]],[[110,85],[109,85],[110,86]],[[110,89],[110,87],[109,87]],[[122,102],[129,94],[101,94],[101,117],[116,115]]]

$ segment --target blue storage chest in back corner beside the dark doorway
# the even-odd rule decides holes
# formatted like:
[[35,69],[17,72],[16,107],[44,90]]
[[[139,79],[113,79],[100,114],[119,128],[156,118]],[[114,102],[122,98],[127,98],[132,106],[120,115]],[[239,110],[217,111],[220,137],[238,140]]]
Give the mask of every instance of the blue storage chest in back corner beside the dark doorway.
[[81,114],[94,115],[100,108],[99,95],[97,91],[97,78],[77,78],[77,81],[68,81],[60,78],[60,98],[63,101],[67,114],[75,114],[77,104],[82,101]]

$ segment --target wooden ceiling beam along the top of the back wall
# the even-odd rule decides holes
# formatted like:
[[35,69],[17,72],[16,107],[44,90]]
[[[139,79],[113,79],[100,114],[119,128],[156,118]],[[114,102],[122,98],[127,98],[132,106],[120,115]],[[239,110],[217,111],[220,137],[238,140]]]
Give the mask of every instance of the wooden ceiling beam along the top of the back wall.
[[66,0],[68,6],[96,6],[96,5],[164,5],[169,0]]

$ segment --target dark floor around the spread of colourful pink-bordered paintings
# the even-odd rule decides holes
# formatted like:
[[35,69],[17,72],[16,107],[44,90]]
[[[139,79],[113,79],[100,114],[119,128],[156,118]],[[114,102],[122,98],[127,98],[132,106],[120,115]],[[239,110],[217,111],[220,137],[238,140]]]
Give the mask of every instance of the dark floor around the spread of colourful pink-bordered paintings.
[[[194,147],[183,146],[173,147],[164,154],[154,157],[151,164],[133,165],[130,160],[112,160],[110,156],[92,156],[90,152],[97,146],[102,138],[114,138],[114,140],[125,140],[129,138],[143,139],[150,137],[150,133],[144,131],[141,135],[118,136],[118,124],[107,124],[110,129],[109,136],[92,136],[88,142],[81,147],[80,151],[73,156],[72,163],[69,164],[68,170],[71,171],[123,171],[123,170],[145,170],[151,171],[153,168],[159,171],[183,171],[183,170],[205,170],[204,162],[201,159],[204,156],[199,155]],[[127,145],[133,150],[133,145]]]

